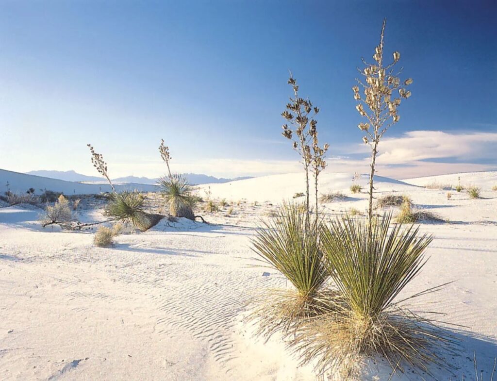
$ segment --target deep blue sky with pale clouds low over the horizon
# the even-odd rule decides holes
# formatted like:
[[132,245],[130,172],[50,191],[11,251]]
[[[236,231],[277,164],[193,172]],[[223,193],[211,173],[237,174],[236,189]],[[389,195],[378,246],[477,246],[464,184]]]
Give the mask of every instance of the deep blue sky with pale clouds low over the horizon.
[[361,56],[374,52],[384,17],[386,53],[401,52],[414,84],[399,109],[401,122],[380,146],[383,174],[497,169],[493,1],[0,7],[3,169],[95,174],[91,143],[112,177],[156,176],[164,170],[157,150],[164,138],[176,171],[298,170],[280,136],[292,70],[302,95],[321,108],[320,137],[334,156],[329,170],[360,171],[367,152],[350,88]]

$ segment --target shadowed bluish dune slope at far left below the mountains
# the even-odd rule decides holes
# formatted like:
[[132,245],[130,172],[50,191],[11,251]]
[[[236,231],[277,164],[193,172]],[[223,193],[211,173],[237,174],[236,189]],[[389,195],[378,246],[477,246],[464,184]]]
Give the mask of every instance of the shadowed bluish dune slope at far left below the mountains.
[[[108,184],[83,184],[79,182],[64,181],[28,175],[25,173],[12,172],[0,169],[0,193],[10,190],[14,193],[24,193],[29,188],[34,188],[36,194],[43,193],[45,190],[63,192],[64,194],[96,194],[100,192],[110,192]],[[121,184],[116,185],[116,190],[137,189],[140,191],[153,192],[157,190],[154,185],[146,184]]]

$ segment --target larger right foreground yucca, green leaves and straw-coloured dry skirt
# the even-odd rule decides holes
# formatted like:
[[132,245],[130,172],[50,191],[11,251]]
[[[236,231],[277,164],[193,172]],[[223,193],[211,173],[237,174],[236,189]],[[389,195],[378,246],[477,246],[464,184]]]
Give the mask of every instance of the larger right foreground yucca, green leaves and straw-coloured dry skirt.
[[303,360],[318,358],[320,370],[331,368],[349,379],[365,359],[383,356],[393,369],[402,363],[429,374],[443,366],[438,351],[450,351],[452,337],[438,330],[396,298],[425,264],[432,237],[413,226],[383,219],[342,219],[322,229],[323,263],[337,289],[329,312],[301,324],[294,344]]

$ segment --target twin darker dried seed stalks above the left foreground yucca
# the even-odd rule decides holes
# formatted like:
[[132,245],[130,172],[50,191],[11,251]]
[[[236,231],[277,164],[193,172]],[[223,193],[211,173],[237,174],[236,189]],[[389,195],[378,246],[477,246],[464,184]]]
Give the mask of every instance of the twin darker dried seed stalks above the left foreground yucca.
[[[302,157],[302,164],[306,173],[306,212],[309,212],[309,170],[315,175],[316,185],[316,208],[317,208],[317,184],[319,173],[326,167],[324,156],[328,151],[328,144],[323,148],[319,147],[318,132],[316,125],[318,122],[314,117],[319,113],[319,108],[312,105],[309,99],[299,97],[299,86],[297,81],[290,73],[288,84],[293,88],[294,97],[290,97],[290,103],[286,105],[286,110],[281,116],[293,125],[290,128],[288,124],[282,126],[282,135],[292,141],[292,146]],[[296,139],[294,139],[294,134]]]

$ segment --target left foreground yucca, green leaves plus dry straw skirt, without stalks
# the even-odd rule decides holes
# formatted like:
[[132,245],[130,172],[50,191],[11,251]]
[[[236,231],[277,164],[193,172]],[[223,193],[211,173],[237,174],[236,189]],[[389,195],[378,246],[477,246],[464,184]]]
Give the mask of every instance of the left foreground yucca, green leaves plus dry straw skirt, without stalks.
[[321,261],[318,236],[319,224],[309,226],[307,211],[293,204],[278,207],[275,218],[257,230],[252,250],[293,286],[257,298],[262,303],[252,316],[260,322],[259,333],[289,332],[300,319],[319,313],[317,300],[328,273]]

